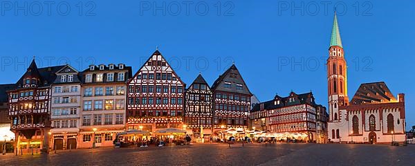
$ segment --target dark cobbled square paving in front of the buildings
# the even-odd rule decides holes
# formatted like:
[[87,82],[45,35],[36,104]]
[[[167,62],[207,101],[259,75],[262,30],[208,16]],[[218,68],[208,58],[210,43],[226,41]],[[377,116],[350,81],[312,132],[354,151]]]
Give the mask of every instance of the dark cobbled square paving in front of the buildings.
[[0,156],[0,165],[415,165],[415,145],[224,144]]

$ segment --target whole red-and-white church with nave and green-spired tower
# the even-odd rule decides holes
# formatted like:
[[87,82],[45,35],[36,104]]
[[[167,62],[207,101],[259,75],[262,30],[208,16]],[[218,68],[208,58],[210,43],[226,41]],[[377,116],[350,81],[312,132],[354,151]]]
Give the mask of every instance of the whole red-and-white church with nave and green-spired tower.
[[332,142],[389,144],[392,141],[405,141],[403,93],[396,100],[385,82],[371,82],[361,84],[349,102],[346,60],[336,15],[327,59],[327,80],[328,127]]

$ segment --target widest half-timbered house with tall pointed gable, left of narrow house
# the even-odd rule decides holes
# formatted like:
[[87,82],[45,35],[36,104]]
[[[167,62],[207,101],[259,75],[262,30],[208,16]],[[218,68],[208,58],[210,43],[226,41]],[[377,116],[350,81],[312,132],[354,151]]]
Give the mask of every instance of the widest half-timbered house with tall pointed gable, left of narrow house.
[[182,128],[185,83],[156,50],[129,80],[127,128]]

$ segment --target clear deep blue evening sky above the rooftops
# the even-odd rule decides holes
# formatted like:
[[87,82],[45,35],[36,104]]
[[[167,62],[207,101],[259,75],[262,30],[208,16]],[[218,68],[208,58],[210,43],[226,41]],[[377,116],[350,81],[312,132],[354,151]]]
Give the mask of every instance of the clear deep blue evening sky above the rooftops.
[[187,84],[199,72],[212,84],[234,61],[261,101],[312,90],[327,105],[324,63],[337,4],[349,98],[361,83],[386,82],[395,96],[405,93],[409,129],[415,125],[414,3],[1,1],[0,82],[17,82],[33,55],[38,66],[68,62],[82,71],[91,63],[124,63],[135,73],[159,46]]

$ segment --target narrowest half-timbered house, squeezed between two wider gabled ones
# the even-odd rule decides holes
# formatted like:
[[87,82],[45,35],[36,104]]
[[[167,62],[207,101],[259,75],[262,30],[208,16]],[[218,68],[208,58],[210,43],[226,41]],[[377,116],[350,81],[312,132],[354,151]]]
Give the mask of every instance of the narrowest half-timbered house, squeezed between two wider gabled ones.
[[185,94],[185,124],[188,129],[193,131],[195,138],[199,138],[201,132],[204,136],[212,134],[212,91],[201,74],[187,88]]

